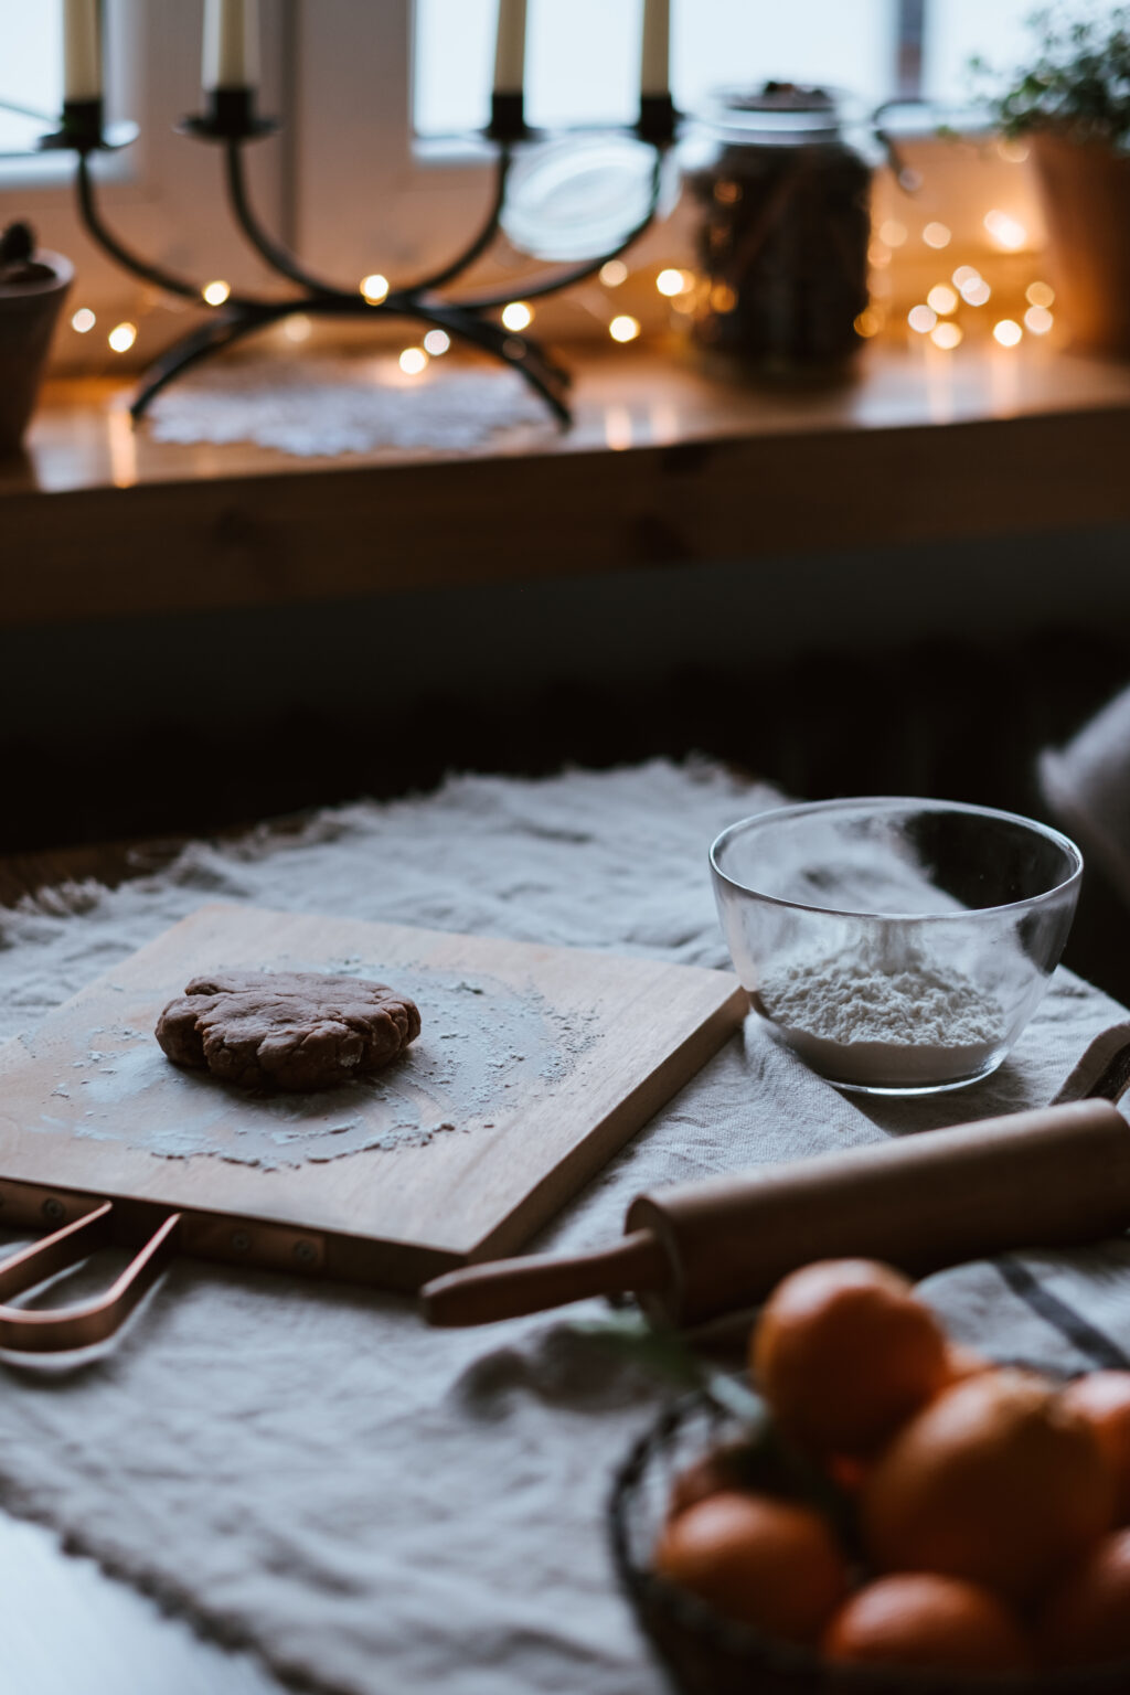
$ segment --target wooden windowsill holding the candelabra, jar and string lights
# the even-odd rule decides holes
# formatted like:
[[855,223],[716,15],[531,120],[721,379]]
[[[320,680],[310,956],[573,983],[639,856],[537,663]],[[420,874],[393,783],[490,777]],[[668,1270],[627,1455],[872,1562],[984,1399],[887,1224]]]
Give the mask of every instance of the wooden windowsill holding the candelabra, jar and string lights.
[[134,431],[129,388],[49,385],[0,466],[0,624],[1130,520],[1130,364],[871,346],[835,390],[573,354],[576,424],[464,454],[295,459]]

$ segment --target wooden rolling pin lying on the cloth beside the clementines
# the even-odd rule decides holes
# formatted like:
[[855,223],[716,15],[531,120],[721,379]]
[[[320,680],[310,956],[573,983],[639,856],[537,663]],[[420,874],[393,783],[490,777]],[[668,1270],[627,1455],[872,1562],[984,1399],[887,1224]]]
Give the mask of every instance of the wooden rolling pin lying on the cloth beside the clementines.
[[1110,1100],[1076,1100],[639,1195],[615,1248],[468,1266],[422,1297],[442,1325],[627,1293],[693,1325],[756,1305],[810,1259],[862,1254],[920,1276],[1128,1227],[1130,1124]]

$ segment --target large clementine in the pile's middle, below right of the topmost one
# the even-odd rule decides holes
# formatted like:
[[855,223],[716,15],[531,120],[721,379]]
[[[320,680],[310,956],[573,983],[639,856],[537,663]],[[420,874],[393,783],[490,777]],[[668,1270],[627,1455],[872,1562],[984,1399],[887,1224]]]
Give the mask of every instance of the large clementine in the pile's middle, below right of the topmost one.
[[1113,1522],[1091,1427],[1027,1371],[945,1390],[893,1439],[861,1497],[884,1571],[940,1571],[1027,1600]]

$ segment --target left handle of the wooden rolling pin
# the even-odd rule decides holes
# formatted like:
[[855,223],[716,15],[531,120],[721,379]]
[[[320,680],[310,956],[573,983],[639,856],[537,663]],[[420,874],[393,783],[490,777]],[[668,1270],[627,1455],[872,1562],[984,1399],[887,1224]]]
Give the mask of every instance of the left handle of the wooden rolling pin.
[[466,1266],[420,1290],[429,1324],[454,1329],[520,1319],[547,1307],[566,1307],[588,1295],[632,1295],[667,1283],[667,1256],[651,1231],[634,1231],[615,1248],[569,1259],[527,1256]]

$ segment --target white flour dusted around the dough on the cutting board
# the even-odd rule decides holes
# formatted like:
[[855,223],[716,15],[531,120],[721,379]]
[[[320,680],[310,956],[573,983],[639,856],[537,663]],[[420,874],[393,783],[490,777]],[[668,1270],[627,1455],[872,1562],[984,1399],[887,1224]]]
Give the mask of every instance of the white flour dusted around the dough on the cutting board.
[[[125,1141],[164,1159],[212,1156],[266,1171],[325,1164],[376,1149],[420,1148],[439,1134],[490,1129],[505,1119],[518,1086],[529,1109],[596,1041],[590,1014],[561,1012],[529,985],[517,988],[481,973],[390,970],[357,958],[263,966],[271,968],[322,970],[373,981],[391,976],[420,1007],[422,1032],[378,1076],[313,1095],[244,1095],[203,1071],[171,1064],[151,1029],[103,1027],[91,1032],[86,1054],[68,1066],[51,1092],[78,1103],[78,1122],[44,1114],[34,1127]],[[169,985],[169,995],[180,986]],[[159,1100],[159,1112],[154,1110],[144,1132],[124,1127],[120,1109],[149,1092],[154,1109]]]

